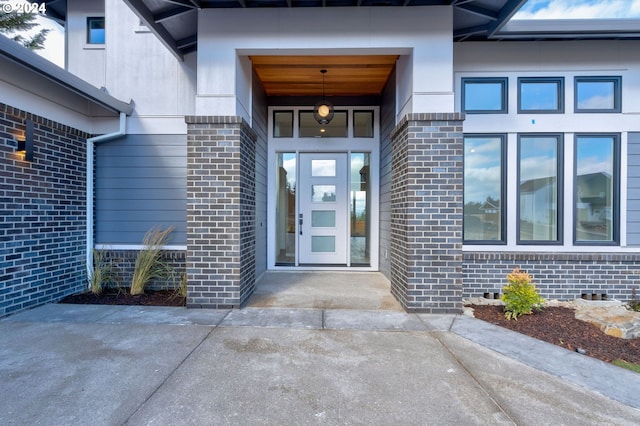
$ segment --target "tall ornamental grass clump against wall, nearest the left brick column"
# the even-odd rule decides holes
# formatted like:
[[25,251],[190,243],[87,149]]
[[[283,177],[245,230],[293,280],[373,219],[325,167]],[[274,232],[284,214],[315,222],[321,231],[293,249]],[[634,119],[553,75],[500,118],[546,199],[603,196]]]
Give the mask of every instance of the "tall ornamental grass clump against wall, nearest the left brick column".
[[145,286],[155,278],[170,278],[173,269],[162,260],[162,247],[166,245],[174,227],[162,230],[151,228],[142,240],[143,248],[138,252],[131,279],[131,294],[143,294]]

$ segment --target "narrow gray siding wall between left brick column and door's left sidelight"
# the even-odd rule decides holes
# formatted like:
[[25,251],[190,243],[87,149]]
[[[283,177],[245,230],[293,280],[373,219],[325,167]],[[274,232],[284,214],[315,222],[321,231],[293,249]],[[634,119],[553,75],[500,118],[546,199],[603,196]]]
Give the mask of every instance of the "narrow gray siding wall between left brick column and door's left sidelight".
[[256,132],[256,277],[267,269],[267,98],[253,78],[252,128]]

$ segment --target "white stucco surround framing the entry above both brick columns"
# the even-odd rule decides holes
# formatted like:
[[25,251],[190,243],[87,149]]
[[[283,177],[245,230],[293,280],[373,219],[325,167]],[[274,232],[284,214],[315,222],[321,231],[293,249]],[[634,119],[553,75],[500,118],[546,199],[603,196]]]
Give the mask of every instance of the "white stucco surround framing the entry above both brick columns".
[[[250,121],[248,55],[398,54],[399,116],[452,112],[452,9],[203,9],[196,114]],[[238,59],[240,58],[240,59]]]

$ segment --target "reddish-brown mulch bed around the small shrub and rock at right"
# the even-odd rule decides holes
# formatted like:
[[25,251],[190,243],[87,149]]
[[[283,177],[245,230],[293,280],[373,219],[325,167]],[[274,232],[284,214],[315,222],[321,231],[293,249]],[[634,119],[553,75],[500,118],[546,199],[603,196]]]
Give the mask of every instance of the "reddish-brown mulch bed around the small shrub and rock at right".
[[575,318],[574,310],[548,307],[517,321],[504,317],[503,306],[473,305],[474,316],[527,336],[575,351],[606,362],[624,360],[640,364],[640,339],[619,339],[604,334],[598,327]]

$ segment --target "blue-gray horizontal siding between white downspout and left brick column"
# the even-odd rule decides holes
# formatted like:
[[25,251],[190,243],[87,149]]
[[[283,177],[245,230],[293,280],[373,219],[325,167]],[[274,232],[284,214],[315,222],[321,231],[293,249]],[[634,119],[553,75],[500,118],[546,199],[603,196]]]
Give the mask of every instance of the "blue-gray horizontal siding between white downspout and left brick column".
[[186,135],[127,135],[96,147],[97,244],[141,244],[154,226],[175,226],[186,245]]

